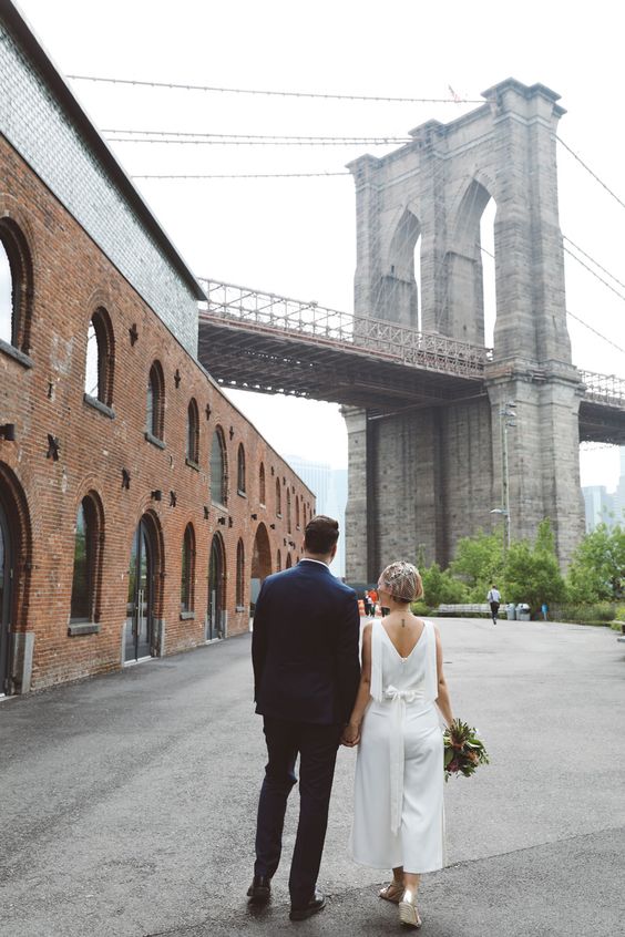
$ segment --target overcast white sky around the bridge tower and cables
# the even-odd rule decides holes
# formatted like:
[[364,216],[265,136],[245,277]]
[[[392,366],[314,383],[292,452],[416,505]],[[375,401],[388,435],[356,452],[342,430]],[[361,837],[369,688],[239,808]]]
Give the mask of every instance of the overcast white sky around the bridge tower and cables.
[[[625,200],[623,41],[613,0],[479,4],[386,0],[20,0],[65,74],[242,89],[468,97],[512,75],[562,95],[560,135]],[[71,82],[96,126],[205,133],[393,135],[475,105],[319,102]],[[391,147],[112,144],[129,174],[342,169]],[[625,208],[562,148],[563,233],[625,282]],[[141,181],[165,230],[198,276],[351,309],[354,183],[319,179]],[[574,261],[567,307],[625,346],[625,303]],[[616,288],[625,295],[625,287]],[[625,374],[625,354],[570,320],[574,362]],[[336,406],[236,392],[283,453],[347,464]],[[582,455],[582,483],[614,487],[616,451]]]

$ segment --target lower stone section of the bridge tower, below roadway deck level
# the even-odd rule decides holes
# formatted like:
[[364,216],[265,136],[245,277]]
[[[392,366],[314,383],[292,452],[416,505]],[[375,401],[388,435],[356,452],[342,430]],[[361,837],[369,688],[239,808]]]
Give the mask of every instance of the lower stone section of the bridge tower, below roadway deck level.
[[491,509],[503,507],[501,411],[509,401],[512,538],[533,539],[550,517],[565,566],[584,531],[580,382],[575,369],[568,372],[504,377],[493,369],[488,395],[475,400],[386,415],[344,408],[349,580],[373,583],[388,563],[419,553],[444,567],[461,537],[498,529]]

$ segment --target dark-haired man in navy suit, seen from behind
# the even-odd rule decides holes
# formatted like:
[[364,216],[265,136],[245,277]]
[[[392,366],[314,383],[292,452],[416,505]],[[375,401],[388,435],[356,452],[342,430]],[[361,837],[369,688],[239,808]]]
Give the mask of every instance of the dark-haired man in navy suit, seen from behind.
[[329,569],[338,535],[331,517],[312,517],[303,558],[265,579],[254,615],[254,698],[264,720],[268,761],[247,895],[255,903],[269,899],[299,754],[299,823],[288,883],[291,920],[304,920],[326,904],[316,887],[317,875],[337,749],[360,679],[356,593]]

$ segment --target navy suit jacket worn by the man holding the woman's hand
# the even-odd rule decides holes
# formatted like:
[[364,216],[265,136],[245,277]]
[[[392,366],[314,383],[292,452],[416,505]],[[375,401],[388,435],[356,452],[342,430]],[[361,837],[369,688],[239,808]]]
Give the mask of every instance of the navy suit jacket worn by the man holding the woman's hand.
[[254,614],[256,712],[345,723],[360,681],[356,593],[325,564],[301,559],[268,576]]

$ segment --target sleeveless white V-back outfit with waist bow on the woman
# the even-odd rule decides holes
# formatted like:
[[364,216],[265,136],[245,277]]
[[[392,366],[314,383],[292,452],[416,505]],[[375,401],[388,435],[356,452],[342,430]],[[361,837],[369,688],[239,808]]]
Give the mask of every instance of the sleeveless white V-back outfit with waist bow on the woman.
[[402,658],[381,620],[371,631],[371,701],[362,720],[354,792],[354,859],[373,868],[444,865],[443,740],[434,626]]

